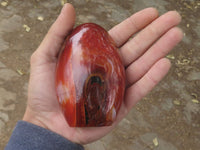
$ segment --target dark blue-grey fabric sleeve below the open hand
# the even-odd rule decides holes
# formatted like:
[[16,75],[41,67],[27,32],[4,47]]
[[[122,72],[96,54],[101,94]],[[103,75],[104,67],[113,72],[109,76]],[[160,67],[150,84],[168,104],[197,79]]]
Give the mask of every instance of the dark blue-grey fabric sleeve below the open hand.
[[77,149],[83,146],[27,121],[18,121],[6,150],[9,149]]

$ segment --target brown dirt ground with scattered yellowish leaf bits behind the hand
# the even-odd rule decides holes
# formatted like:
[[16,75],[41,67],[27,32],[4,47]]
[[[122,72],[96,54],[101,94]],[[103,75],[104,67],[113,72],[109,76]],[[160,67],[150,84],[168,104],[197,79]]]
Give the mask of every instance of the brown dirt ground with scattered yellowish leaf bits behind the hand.
[[[86,150],[199,150],[200,1],[68,0],[76,24],[95,22],[106,29],[134,12],[156,7],[177,10],[185,37],[168,55],[172,69],[118,127]],[[29,58],[62,7],[63,0],[0,0],[0,149],[23,116]]]

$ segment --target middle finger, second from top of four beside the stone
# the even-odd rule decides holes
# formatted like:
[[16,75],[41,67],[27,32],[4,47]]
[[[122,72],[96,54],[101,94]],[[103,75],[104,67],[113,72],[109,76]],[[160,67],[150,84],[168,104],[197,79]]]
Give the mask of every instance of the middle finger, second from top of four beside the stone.
[[180,21],[180,15],[176,11],[171,11],[152,22],[121,48],[120,52],[124,65],[127,66],[135,61],[152,45],[152,43],[158,40],[158,38],[169,29],[178,25]]

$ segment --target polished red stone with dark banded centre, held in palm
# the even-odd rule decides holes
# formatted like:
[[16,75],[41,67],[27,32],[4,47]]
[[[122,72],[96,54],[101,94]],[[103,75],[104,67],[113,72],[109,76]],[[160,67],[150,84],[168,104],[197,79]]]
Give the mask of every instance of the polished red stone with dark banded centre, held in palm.
[[75,28],[56,70],[57,97],[68,124],[111,125],[124,90],[124,66],[107,31],[93,23]]

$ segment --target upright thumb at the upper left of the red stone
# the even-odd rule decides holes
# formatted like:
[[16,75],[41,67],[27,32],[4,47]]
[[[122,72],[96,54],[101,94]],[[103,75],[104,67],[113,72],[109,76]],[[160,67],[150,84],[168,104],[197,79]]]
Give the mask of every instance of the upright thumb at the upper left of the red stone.
[[65,37],[71,31],[75,22],[75,10],[71,4],[65,4],[60,15],[51,26],[43,42],[38,48],[38,53],[48,57],[56,57]]

